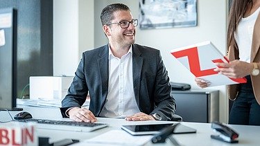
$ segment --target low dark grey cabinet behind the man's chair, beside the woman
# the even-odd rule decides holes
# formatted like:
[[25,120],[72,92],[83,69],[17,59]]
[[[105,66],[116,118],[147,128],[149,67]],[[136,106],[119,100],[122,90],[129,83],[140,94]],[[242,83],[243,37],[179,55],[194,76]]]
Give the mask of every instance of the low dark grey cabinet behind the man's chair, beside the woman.
[[212,122],[219,120],[219,91],[172,91],[177,109],[184,122]]

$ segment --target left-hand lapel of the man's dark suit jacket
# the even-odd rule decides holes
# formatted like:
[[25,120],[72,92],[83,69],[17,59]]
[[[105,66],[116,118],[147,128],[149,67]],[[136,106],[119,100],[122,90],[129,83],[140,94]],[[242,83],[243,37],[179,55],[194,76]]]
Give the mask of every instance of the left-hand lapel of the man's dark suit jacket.
[[[102,82],[102,103],[101,109],[105,104],[105,99],[107,98],[108,90],[108,45],[104,46],[103,51],[99,53],[100,58],[98,58],[98,71]],[[100,113],[101,111],[99,111]],[[99,115],[98,113],[98,115]]]

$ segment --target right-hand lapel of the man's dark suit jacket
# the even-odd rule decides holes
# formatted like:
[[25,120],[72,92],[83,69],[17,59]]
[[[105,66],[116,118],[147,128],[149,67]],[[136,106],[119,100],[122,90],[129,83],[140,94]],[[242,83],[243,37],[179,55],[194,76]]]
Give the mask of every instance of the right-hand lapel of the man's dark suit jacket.
[[141,69],[143,66],[144,58],[141,57],[141,52],[135,44],[132,45],[132,82],[134,84],[135,100],[137,100],[137,105],[140,107],[139,103],[139,91],[141,83]]

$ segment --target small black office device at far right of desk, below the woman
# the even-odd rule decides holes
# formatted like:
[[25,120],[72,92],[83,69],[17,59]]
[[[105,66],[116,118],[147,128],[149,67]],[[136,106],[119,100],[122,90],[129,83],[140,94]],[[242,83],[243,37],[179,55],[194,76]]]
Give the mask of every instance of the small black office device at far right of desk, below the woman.
[[211,128],[220,133],[220,135],[211,135],[211,138],[227,143],[239,143],[239,140],[236,140],[236,138],[239,138],[239,134],[230,127],[227,127],[227,125],[223,125],[220,122],[212,122]]

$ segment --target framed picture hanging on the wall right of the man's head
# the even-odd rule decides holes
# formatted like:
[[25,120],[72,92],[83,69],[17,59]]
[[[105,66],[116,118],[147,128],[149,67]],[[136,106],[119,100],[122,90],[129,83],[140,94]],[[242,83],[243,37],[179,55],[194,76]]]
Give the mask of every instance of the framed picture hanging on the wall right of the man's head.
[[140,29],[197,26],[197,0],[139,0]]

